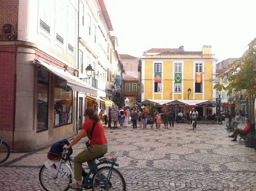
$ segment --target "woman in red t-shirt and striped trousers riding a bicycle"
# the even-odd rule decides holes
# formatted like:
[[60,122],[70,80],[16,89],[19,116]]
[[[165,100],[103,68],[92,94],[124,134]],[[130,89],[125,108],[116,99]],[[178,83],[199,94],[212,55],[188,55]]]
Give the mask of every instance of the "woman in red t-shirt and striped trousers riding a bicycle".
[[[90,147],[76,155],[74,157],[74,174],[77,182],[69,184],[71,189],[83,190],[82,187],[82,174],[85,173],[82,168],[82,163],[87,162],[90,167],[92,164],[90,160],[95,159],[100,155],[104,155],[108,152],[108,141],[104,133],[102,124],[99,122],[100,118],[96,114],[96,111],[89,107],[84,112],[85,123],[82,126],[81,131],[76,135],[75,139],[68,145],[63,146],[63,148],[68,149],[80,141],[83,137],[87,136],[90,140]],[[92,137],[90,136],[92,125],[95,124]],[[95,172],[92,172],[93,174]]]

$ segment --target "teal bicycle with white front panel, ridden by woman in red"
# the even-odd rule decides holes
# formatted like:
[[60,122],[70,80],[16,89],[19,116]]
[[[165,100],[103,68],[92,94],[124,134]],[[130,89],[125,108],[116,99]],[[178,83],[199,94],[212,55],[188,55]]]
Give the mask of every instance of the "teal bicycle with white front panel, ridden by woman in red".
[[[72,141],[70,139],[69,141]],[[74,182],[74,174],[71,170],[71,161],[64,158],[68,154],[68,149],[64,149],[61,154],[61,159],[59,160],[47,160],[41,167],[39,172],[39,181],[41,186],[46,191],[66,191],[69,189],[69,184]],[[96,190],[126,190],[126,183],[123,175],[114,166],[119,166],[117,157],[102,158],[104,155],[96,157],[99,163],[94,163],[95,159],[92,160],[92,166],[90,166],[90,171],[83,175],[83,188]],[[69,161],[70,166],[66,163]],[[111,164],[111,166],[103,166],[97,168],[102,164]],[[96,173],[93,174],[92,178],[89,178],[92,171]]]

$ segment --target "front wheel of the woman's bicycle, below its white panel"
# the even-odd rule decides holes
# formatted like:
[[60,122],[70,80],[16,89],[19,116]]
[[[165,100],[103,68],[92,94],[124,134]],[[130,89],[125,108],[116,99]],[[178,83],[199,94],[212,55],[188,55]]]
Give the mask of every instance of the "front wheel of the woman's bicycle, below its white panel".
[[68,177],[57,177],[54,180],[53,173],[43,165],[39,172],[39,181],[46,191],[66,191],[72,183],[71,174]]

